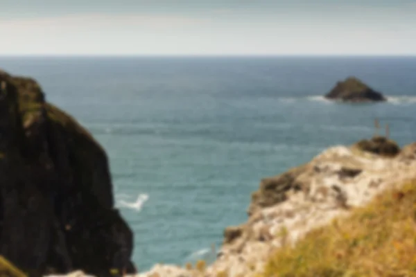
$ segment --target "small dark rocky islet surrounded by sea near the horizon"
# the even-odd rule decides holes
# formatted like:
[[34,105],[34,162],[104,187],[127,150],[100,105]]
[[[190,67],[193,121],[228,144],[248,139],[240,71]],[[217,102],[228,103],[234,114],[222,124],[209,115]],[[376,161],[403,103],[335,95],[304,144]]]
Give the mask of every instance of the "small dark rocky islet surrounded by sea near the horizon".
[[387,100],[383,94],[364,84],[355,77],[338,82],[325,98],[343,102],[381,102]]

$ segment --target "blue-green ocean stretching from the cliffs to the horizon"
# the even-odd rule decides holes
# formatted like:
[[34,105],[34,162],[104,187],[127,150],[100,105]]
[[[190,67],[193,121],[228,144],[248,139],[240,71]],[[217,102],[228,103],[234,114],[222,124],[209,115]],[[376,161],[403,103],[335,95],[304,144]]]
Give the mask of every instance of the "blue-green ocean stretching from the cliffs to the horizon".
[[[107,150],[140,271],[211,260],[263,177],[388,124],[416,141],[416,57],[0,57]],[[385,103],[322,98],[350,75]],[[383,132],[383,128],[381,130]]]

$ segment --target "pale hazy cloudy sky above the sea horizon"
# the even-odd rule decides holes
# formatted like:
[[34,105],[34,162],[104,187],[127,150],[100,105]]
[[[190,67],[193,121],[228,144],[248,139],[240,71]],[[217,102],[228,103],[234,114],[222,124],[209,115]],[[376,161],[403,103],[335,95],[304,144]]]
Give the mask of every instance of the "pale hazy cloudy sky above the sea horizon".
[[416,0],[0,0],[0,55],[416,55]]

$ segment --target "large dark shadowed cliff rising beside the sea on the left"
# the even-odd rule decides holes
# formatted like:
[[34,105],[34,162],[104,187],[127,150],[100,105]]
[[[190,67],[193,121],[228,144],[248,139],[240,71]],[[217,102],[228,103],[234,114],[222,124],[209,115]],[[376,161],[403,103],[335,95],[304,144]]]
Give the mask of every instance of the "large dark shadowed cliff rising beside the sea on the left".
[[0,254],[29,276],[135,272],[103,148],[35,80],[0,84]]

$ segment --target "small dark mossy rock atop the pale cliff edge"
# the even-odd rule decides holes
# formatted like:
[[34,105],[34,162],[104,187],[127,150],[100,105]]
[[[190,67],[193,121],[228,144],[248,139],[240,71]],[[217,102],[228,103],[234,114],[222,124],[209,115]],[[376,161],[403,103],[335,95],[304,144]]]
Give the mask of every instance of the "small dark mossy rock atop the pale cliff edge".
[[384,157],[396,157],[400,153],[399,145],[384,136],[374,136],[370,140],[358,141],[355,146],[363,152],[370,152]]

